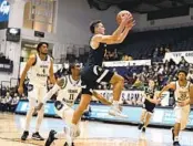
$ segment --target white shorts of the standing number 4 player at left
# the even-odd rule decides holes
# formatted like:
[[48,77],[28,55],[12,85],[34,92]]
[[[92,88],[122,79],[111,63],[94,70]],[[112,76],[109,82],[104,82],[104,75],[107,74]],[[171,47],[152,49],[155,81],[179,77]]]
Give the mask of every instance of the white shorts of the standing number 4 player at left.
[[28,100],[29,107],[35,107],[40,102],[43,102],[43,97],[47,94],[47,86],[29,83],[28,85]]

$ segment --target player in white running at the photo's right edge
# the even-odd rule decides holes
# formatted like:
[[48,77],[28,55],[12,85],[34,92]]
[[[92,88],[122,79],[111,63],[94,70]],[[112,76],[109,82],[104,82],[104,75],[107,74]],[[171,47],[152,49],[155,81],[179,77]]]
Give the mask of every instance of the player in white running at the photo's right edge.
[[172,128],[173,146],[180,146],[179,133],[186,127],[190,114],[190,104],[193,103],[193,85],[186,80],[187,72],[180,70],[177,72],[177,81],[171,82],[160,92],[161,97],[164,91],[170,88],[174,91],[175,97],[175,125]]

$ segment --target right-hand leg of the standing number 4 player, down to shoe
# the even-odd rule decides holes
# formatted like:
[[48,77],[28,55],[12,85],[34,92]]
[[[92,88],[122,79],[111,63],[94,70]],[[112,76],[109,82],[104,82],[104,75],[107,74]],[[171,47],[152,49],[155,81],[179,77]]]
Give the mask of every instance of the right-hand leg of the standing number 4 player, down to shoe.
[[[43,97],[47,94],[47,86],[39,87],[38,91],[38,103],[43,102]],[[39,134],[41,123],[43,121],[44,116],[44,106],[41,107],[40,111],[38,111],[38,116],[37,116],[37,123],[35,123],[35,132],[32,134],[32,138],[37,140],[44,140],[44,138]]]

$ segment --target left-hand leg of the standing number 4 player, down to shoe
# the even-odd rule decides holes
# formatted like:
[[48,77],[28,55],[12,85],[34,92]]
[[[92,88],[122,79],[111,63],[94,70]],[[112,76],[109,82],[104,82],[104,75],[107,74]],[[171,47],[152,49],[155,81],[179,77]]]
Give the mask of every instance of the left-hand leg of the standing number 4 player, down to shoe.
[[22,140],[26,140],[29,136],[30,122],[33,116],[34,107],[37,105],[37,98],[35,98],[37,95],[38,95],[37,88],[34,87],[34,85],[29,84],[28,85],[29,109],[28,109],[27,116],[26,116],[24,132],[21,136]]

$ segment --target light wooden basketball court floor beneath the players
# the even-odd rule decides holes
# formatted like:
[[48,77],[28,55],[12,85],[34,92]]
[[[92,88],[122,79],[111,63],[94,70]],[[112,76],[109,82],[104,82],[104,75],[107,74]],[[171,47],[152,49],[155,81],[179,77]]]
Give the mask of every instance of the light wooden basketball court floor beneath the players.
[[[0,146],[44,146],[44,142],[29,139],[21,142],[24,127],[24,116],[0,113]],[[35,118],[30,131],[34,132]],[[44,118],[40,134],[47,138],[50,129],[62,132],[63,122],[59,118]],[[99,122],[81,122],[81,136],[75,139],[75,146],[172,146],[171,131],[148,128],[141,134],[136,126],[106,124]],[[182,146],[193,146],[193,132],[181,134]],[[55,140],[53,146],[63,146],[64,139]]]

